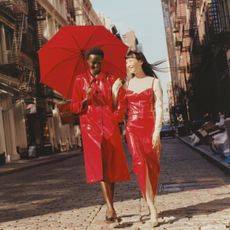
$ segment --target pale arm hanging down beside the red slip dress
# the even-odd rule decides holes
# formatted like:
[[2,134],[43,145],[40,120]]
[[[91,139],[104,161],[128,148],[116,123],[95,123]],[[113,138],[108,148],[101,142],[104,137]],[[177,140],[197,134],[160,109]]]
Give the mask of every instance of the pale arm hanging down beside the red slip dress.
[[160,138],[163,120],[163,92],[159,79],[154,79],[153,91],[155,96],[155,129],[152,137],[152,144],[155,146]]

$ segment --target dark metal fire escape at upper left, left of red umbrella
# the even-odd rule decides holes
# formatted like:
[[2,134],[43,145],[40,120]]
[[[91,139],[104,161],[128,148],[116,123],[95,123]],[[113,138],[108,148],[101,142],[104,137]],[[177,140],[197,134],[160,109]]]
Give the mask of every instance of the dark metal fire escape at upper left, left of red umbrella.
[[6,50],[6,58],[2,72],[19,80],[18,90],[21,94],[30,94],[34,88],[34,71],[31,57],[24,52],[23,39],[28,31],[28,7],[25,0],[2,0],[0,7],[14,18],[10,49]]

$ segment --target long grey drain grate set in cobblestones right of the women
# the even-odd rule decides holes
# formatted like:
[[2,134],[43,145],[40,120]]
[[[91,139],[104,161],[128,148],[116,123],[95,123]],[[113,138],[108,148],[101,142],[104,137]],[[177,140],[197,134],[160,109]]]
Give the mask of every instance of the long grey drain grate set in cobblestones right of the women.
[[193,189],[214,188],[224,185],[222,180],[209,180],[209,181],[190,181],[180,183],[163,183],[159,184],[159,192],[181,192]]

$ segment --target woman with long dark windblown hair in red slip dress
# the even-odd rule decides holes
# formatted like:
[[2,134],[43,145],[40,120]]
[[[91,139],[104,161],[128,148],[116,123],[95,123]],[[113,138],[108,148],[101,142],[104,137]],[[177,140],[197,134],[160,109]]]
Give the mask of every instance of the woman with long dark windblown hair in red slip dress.
[[[150,223],[158,225],[154,198],[160,172],[160,130],[162,125],[162,89],[151,65],[140,52],[129,51],[126,66],[132,78],[126,84],[128,119],[126,137],[143,197],[150,210]],[[116,80],[113,91],[121,87]]]

